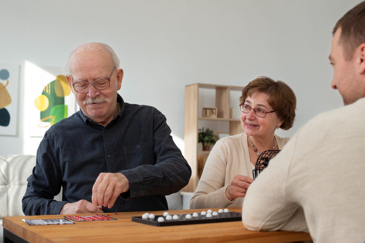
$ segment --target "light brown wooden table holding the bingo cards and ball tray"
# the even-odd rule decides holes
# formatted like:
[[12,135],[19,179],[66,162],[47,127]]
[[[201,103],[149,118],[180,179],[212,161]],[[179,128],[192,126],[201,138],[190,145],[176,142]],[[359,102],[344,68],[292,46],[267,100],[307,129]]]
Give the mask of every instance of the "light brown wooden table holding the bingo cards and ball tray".
[[[229,208],[241,212],[242,208]],[[207,209],[171,210],[170,215]],[[218,209],[214,210],[218,211]],[[145,212],[111,214],[118,220],[75,222],[75,224],[29,226],[22,219],[59,219],[60,215],[4,217],[4,243],[7,242],[293,242],[310,240],[304,232],[247,230],[242,221],[155,227],[132,222],[132,216]],[[151,212],[149,212],[151,213]],[[162,215],[164,211],[155,211]],[[105,213],[106,214],[106,213]],[[91,214],[85,214],[91,215]]]

